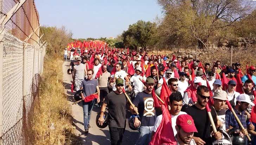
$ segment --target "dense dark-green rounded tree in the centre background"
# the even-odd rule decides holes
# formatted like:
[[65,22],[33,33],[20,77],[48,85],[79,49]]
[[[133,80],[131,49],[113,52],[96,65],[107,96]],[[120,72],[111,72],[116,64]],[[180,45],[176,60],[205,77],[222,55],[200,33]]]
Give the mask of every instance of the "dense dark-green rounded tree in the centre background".
[[156,23],[139,20],[122,33],[123,44],[130,48],[151,46],[156,43],[156,30]]

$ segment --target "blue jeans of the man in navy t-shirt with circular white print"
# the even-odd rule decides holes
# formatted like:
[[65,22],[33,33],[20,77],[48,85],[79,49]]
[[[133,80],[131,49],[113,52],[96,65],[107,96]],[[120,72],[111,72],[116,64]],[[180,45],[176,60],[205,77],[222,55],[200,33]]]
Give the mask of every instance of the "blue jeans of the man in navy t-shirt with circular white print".
[[151,141],[151,134],[154,126],[140,126],[139,138],[137,139],[136,145],[148,145]]

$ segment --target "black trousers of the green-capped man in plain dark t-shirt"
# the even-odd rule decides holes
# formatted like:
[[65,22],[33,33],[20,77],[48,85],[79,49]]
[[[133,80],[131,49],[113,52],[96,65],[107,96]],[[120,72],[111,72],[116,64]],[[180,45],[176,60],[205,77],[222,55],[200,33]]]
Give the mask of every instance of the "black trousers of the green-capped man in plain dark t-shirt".
[[121,145],[125,128],[109,127],[111,145]]

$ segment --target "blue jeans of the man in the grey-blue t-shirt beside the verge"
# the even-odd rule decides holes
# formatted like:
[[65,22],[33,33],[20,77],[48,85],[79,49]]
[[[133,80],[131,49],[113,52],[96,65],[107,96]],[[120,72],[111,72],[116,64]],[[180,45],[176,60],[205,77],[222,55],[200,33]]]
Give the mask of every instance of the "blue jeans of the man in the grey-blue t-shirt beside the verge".
[[84,111],[84,130],[89,129],[88,124],[90,123],[91,110],[94,105],[94,100],[91,102],[83,101],[83,111]]

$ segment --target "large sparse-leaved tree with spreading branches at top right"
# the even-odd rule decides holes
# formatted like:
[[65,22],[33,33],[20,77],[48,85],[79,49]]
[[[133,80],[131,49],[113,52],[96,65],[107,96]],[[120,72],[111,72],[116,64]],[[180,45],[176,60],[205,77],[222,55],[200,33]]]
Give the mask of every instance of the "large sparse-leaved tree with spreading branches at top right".
[[[214,41],[216,37],[217,40],[222,39],[223,31],[255,9],[252,1],[248,0],[158,0],[158,3],[165,13],[163,21],[174,21],[171,22],[173,28],[164,28],[162,33],[169,32],[168,36],[174,36],[174,42],[180,38],[189,40],[193,36],[206,50],[209,38]],[[173,39],[168,36],[167,39]]]

